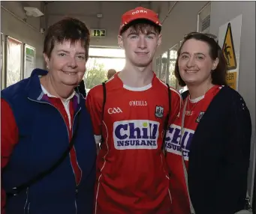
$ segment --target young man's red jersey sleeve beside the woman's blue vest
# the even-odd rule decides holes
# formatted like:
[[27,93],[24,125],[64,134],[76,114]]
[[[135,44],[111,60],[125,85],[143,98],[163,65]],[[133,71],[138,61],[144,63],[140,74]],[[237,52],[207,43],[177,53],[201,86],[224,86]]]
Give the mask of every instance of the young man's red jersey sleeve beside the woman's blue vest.
[[92,127],[95,135],[95,142],[101,142],[101,127],[102,127],[102,106],[103,106],[103,90],[100,85],[92,88],[86,97],[86,108],[92,118]]

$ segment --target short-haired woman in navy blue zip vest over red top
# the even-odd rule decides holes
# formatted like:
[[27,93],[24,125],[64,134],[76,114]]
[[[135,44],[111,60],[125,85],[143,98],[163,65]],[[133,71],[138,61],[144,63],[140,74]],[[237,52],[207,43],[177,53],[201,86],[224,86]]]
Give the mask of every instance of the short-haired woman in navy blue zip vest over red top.
[[86,25],[62,19],[44,40],[48,71],[35,69],[2,91],[2,213],[92,213],[95,140],[74,90],[88,50]]

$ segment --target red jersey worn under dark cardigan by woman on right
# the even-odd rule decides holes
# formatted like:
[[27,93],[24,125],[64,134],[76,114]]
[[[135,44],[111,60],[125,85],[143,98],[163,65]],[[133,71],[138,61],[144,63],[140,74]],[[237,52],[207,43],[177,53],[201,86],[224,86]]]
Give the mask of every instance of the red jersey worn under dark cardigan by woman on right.
[[188,168],[189,150],[194,132],[197,129],[197,125],[203,117],[204,112],[208,108],[209,103],[211,103],[212,98],[215,97],[220,90],[221,86],[215,85],[209,89],[204,96],[194,100],[190,100],[188,95],[186,98],[187,105],[185,108],[183,135],[181,135],[183,106],[179,116],[176,117],[176,120],[171,124],[167,132],[165,143],[167,148],[167,165],[170,170],[170,190],[173,200],[172,213],[190,213],[188,191],[182,166],[181,147],[185,165],[186,168]]

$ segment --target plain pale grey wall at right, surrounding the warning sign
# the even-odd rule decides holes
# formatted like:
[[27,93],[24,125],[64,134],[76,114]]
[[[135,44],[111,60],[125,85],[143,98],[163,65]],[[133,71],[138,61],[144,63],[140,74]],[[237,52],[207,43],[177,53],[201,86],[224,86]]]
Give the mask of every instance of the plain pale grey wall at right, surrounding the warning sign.
[[[251,186],[252,161],[255,159],[255,1],[212,1],[210,32],[218,35],[218,28],[242,14],[238,91],[251,113],[251,165],[248,186]],[[256,187],[255,187],[256,188]]]

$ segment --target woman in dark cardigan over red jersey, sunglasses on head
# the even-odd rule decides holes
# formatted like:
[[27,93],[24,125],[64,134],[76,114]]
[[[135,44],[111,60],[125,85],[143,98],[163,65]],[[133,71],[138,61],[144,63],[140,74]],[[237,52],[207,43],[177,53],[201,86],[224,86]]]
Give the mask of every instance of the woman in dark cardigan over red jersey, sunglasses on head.
[[188,91],[166,138],[173,213],[236,213],[245,206],[251,117],[227,86],[226,61],[212,35],[185,37],[175,75]]

